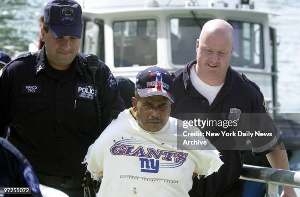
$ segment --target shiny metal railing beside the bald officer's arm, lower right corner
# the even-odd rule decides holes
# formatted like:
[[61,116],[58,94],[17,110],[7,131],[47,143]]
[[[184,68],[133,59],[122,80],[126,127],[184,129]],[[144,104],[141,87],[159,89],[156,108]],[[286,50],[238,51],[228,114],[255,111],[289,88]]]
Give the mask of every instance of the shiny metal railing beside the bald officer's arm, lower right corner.
[[279,197],[278,186],[300,188],[300,172],[244,165],[240,179],[266,184],[266,197]]

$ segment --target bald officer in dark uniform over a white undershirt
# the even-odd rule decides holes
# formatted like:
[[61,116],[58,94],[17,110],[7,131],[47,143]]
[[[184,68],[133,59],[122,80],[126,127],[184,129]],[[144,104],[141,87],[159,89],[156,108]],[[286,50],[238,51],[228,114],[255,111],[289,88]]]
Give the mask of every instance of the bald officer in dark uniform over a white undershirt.
[[[178,113],[267,113],[258,86],[229,66],[233,48],[230,24],[211,20],[203,26],[196,42],[197,59],[174,73],[172,117],[180,119]],[[266,125],[274,137],[261,147],[253,146],[255,142],[251,141],[253,155],[267,155],[273,168],[289,170],[286,151],[275,150],[282,142],[271,118]],[[206,137],[211,142],[216,140]],[[238,179],[245,151],[215,147],[225,164],[211,176],[195,178],[190,196],[242,197],[243,185]],[[296,197],[296,194],[293,188],[285,187],[281,197]]]

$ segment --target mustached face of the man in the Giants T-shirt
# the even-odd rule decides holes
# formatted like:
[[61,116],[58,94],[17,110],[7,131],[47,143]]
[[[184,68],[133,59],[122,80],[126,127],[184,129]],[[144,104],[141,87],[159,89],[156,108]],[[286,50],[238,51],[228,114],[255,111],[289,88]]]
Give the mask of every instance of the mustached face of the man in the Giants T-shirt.
[[146,131],[156,132],[169,120],[172,101],[164,96],[132,98],[137,123]]

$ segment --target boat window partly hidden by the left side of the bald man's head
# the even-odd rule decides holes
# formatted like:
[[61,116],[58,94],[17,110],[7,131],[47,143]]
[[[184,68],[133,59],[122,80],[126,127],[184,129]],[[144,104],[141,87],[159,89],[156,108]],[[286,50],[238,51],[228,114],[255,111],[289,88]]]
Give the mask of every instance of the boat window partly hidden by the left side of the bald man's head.
[[184,65],[196,59],[196,41],[203,25],[211,19],[172,18],[170,20],[170,41],[172,63]]

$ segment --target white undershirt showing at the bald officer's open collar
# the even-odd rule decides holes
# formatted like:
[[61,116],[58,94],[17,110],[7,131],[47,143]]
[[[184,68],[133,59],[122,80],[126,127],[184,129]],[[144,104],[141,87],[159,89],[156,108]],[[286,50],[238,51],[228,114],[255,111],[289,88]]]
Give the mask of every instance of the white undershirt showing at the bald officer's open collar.
[[190,78],[191,78],[191,82],[192,82],[192,85],[194,86],[194,88],[201,95],[203,95],[205,98],[207,98],[207,100],[209,102],[209,105],[211,105],[211,103],[214,101],[214,99],[216,98],[217,94],[221,90],[222,86],[224,85],[224,83],[222,83],[219,86],[207,85],[196,74],[194,66],[191,67]]

